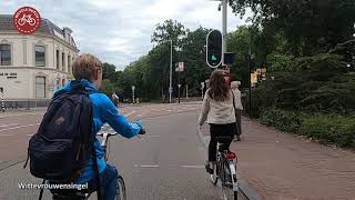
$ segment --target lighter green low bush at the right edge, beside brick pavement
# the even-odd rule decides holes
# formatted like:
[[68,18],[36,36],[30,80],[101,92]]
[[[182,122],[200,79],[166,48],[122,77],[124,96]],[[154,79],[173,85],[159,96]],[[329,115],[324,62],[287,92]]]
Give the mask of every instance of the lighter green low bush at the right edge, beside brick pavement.
[[355,148],[355,117],[335,114],[307,116],[302,121],[302,134],[321,142]]

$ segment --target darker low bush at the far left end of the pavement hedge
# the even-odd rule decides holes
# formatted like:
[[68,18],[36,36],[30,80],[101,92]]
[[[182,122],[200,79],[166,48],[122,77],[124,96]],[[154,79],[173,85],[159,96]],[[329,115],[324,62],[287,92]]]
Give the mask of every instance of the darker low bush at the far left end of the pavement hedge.
[[301,128],[300,114],[277,108],[268,108],[262,111],[260,121],[268,127],[294,133],[298,132]]

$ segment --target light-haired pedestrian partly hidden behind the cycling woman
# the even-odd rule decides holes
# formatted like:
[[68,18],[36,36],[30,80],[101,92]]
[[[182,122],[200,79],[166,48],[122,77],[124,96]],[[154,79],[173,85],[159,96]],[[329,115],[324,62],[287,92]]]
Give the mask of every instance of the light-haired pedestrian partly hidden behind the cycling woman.
[[[231,89],[233,91],[233,94],[235,96],[235,99],[237,99],[237,101],[234,102],[234,108],[235,108],[235,118],[236,118],[236,132],[235,132],[235,137],[234,137],[234,141],[241,141],[241,134],[242,134],[242,110],[243,110],[243,106],[242,106],[242,92],[240,91],[240,86],[241,82],[240,81],[232,81],[231,82]],[[236,104],[240,103],[240,104]]]

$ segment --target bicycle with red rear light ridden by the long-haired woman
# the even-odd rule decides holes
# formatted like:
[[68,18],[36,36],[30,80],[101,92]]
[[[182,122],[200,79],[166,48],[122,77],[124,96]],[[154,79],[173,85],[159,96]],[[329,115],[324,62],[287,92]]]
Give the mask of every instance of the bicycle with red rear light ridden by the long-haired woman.
[[[216,137],[217,152],[216,162],[213,164],[213,172],[211,173],[211,181],[214,186],[217,184],[219,179],[222,183],[223,200],[237,200],[239,184],[236,176],[237,157],[230,151],[225,144],[231,141],[231,137]],[[206,169],[210,171],[209,169]]]

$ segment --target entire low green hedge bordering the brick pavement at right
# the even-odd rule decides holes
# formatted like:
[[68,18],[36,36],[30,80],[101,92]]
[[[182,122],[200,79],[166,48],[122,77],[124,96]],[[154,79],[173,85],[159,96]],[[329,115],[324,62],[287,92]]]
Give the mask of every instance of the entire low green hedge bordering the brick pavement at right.
[[261,112],[258,120],[268,127],[303,134],[323,143],[355,148],[355,116],[311,114],[267,108]]

